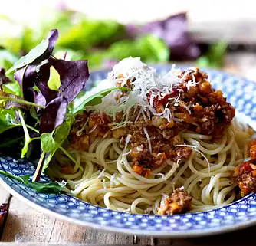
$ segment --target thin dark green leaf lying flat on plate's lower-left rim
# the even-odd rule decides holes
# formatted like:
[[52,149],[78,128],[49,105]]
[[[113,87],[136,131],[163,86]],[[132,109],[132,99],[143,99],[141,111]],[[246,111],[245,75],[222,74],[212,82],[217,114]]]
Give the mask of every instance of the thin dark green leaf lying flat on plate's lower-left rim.
[[12,175],[10,172],[5,172],[2,170],[0,170],[0,173],[3,175],[6,175],[12,179],[16,179],[16,180],[24,183],[25,185],[31,186],[37,192],[58,193],[63,190],[61,185],[59,185],[57,182],[31,182],[29,180],[29,175],[15,176],[15,175]]

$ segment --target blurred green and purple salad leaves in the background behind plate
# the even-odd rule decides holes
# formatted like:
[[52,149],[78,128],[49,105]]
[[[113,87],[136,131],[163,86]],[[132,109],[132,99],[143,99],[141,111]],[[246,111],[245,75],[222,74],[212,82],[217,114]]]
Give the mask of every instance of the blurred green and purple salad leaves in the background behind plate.
[[[67,61],[88,59],[90,68],[112,67],[117,61],[129,56],[141,57],[146,63],[157,63],[195,60],[202,53],[199,45],[189,35],[185,13],[145,25],[121,25],[112,20],[92,20],[65,8],[48,11],[47,16],[47,19],[34,25],[36,29],[16,24],[18,34],[1,35],[0,64],[5,64],[2,67],[10,68],[18,60],[17,57],[27,54],[40,43],[49,27],[61,31],[54,56],[59,59],[66,56],[64,60]],[[14,28],[11,19],[6,19],[5,25]],[[208,57],[208,54],[205,55]],[[205,62],[205,57],[200,62],[210,67],[220,67],[224,55],[221,55],[220,60],[215,59],[215,62],[208,62],[208,58]]]

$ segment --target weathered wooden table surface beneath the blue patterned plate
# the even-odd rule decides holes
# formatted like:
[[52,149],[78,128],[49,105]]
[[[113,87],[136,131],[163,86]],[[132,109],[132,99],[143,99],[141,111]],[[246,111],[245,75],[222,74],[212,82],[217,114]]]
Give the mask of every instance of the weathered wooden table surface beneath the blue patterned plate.
[[[256,56],[251,53],[230,54],[227,57],[225,71],[241,74],[243,77],[256,80]],[[11,198],[11,199],[10,199]],[[254,233],[256,227],[218,235],[194,239],[159,239],[136,236],[115,235],[94,231],[79,225],[52,218],[28,207],[17,198],[11,197],[0,187],[0,203],[10,199],[8,218],[2,233],[2,242],[44,242],[77,244],[143,244],[143,245],[255,245]],[[1,244],[5,245],[5,244]],[[16,244],[15,244],[16,245]],[[31,246],[36,244],[31,244]]]

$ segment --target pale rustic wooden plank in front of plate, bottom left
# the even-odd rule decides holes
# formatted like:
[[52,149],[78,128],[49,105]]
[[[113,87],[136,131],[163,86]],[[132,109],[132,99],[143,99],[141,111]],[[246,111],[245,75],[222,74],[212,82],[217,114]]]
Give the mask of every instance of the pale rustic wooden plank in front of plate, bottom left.
[[[13,198],[2,241],[133,244],[133,236],[115,235],[73,225],[44,215],[21,203],[18,198]],[[152,245],[153,239],[139,237],[136,243]]]

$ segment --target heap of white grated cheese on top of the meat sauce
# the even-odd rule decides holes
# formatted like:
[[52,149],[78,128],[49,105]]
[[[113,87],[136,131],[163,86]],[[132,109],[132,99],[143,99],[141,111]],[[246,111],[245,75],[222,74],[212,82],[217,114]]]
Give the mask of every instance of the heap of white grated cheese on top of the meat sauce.
[[[160,115],[168,121],[173,120],[174,117],[168,108],[168,104],[162,113],[157,113],[154,107],[154,100],[161,100],[169,93],[172,93],[173,87],[178,87],[185,79],[185,76],[195,71],[196,69],[191,67],[189,71],[182,75],[182,78],[179,78],[181,70],[176,69],[175,64],[173,64],[169,72],[160,76],[156,74],[156,69],[144,64],[140,61],[139,57],[127,57],[113,66],[113,70],[107,75],[107,82],[114,87],[126,86],[132,88],[132,91],[129,92],[129,97],[121,97],[121,102],[117,103],[114,96],[120,93],[120,90],[113,90],[106,97],[103,97],[102,103],[89,107],[89,110],[107,113],[113,120],[116,119],[117,113],[122,112],[123,119],[119,123],[114,123],[113,129],[124,127],[130,123],[130,110],[138,106],[140,111],[138,116],[136,116],[135,122],[139,120],[141,115],[143,120],[147,122],[152,114]],[[189,87],[196,84],[195,76],[192,74],[192,80],[186,86],[189,89]],[[179,89],[179,95],[172,98],[170,103],[179,103],[185,110],[191,113],[189,106],[186,106],[179,100],[180,93],[181,89]]]

